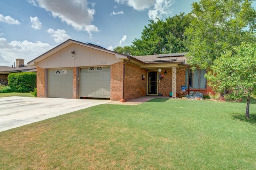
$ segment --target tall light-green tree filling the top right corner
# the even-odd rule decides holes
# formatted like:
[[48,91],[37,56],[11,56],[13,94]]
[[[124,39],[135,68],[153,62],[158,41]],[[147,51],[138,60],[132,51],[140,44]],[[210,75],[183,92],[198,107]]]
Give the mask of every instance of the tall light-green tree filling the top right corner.
[[255,42],[256,12],[251,3],[252,0],[193,2],[191,24],[185,32],[190,65],[209,69],[225,51],[232,51],[242,42]]

